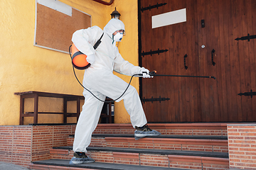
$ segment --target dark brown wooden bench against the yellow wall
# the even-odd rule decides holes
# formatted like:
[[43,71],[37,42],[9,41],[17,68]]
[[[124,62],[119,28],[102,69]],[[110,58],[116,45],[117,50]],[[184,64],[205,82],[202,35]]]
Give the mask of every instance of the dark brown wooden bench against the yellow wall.
[[[33,123],[38,123],[38,114],[63,114],[63,123],[67,123],[68,117],[76,117],[77,120],[80,115],[80,100],[85,100],[84,96],[72,95],[72,94],[54,94],[54,93],[46,93],[41,91],[25,91],[21,93],[14,93],[15,95],[21,96],[20,102],[20,125],[23,125],[24,117],[33,117]],[[49,98],[63,98],[63,112],[39,112],[38,111],[38,98],[39,97],[49,97]],[[25,106],[25,98],[34,98],[33,103],[33,112],[24,113]],[[111,98],[106,98],[106,101],[111,101]],[[77,111],[76,113],[68,113],[67,105],[68,101],[76,101],[77,102]],[[112,123],[112,112],[111,106],[112,103],[105,103],[107,105],[107,111],[102,110],[101,117],[107,118],[108,123]]]

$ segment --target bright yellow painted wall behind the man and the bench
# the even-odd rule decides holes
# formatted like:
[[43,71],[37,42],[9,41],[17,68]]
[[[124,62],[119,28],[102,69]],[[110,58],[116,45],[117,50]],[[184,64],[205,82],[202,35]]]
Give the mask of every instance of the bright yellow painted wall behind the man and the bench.
[[[92,16],[92,26],[103,28],[110,20],[110,13],[117,7],[126,26],[126,35],[119,43],[119,52],[124,60],[138,65],[137,1],[114,0],[105,6],[92,0],[61,0]],[[19,124],[19,96],[15,92],[46,91],[61,94],[82,95],[82,87],[75,80],[69,55],[33,46],[35,29],[35,0],[0,1],[0,125]],[[82,81],[82,71],[77,71]],[[130,77],[120,76],[125,81]],[[132,86],[139,88],[139,80]],[[33,101],[27,99],[26,111]],[[55,104],[58,103],[58,104]],[[74,103],[75,104],[75,103]],[[72,103],[71,103],[71,106]],[[41,98],[40,111],[62,111],[62,101]],[[75,108],[75,107],[73,107]],[[121,102],[115,103],[115,123],[129,123],[129,115]],[[60,115],[40,115],[38,123],[61,123]],[[73,123],[75,120],[68,120]],[[26,123],[32,123],[26,119]]]

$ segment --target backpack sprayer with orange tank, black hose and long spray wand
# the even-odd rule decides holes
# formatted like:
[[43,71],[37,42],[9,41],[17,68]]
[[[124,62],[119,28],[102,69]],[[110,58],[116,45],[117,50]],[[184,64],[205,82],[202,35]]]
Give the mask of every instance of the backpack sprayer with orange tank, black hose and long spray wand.
[[[104,35],[104,33],[102,34],[102,36]],[[102,36],[100,37],[100,40],[97,40],[97,42],[95,43],[95,45],[93,46],[94,49],[96,50],[96,48],[100,45],[100,42],[101,42],[101,39],[102,39]],[[70,48],[72,50],[72,52],[70,52]],[[87,69],[88,67],[90,67],[90,63],[87,62],[86,60],[86,57],[87,55],[83,54],[82,52],[80,52],[78,50],[77,47],[75,47],[75,45],[70,45],[69,47],[69,54],[70,54],[70,58],[71,58],[71,61],[72,61],[72,65],[73,65],[73,72],[74,72],[74,75],[75,75],[75,78],[78,80],[78,83],[87,91],[90,92],[90,94],[92,94],[92,92],[88,89],[85,88],[85,86],[83,86],[81,84],[81,82],[79,81],[78,77],[76,76],[75,74],[75,69]],[[215,77],[207,77],[207,76],[186,76],[186,75],[166,75],[166,74],[156,74],[156,71],[153,71],[153,72],[142,72],[142,74],[134,74],[132,75],[130,81],[129,81],[129,84],[127,86],[127,89],[129,88],[129,85],[131,84],[131,81],[132,81],[132,78],[134,76],[138,76],[138,77],[143,77],[143,74],[146,73],[146,74],[149,74],[149,76],[151,77],[193,77],[193,78],[213,78],[213,79],[216,79]],[[119,98],[121,98],[125,92],[127,91],[127,89],[124,90],[124,93],[122,93],[121,96],[119,96]],[[94,94],[92,94],[92,96],[95,96]],[[95,96],[95,98],[97,98],[97,96]],[[119,98],[115,99],[115,100],[112,100],[112,101],[102,101],[100,98],[97,98],[99,101],[102,101],[102,102],[105,102],[105,103],[111,103],[113,101],[117,101]]]

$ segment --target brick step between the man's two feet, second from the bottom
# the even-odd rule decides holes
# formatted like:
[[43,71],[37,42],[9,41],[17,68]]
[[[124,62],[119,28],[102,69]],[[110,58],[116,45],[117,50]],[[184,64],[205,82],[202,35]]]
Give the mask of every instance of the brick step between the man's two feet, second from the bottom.
[[[70,160],[72,147],[50,149],[50,159]],[[161,149],[131,149],[115,147],[87,147],[87,156],[95,162],[134,164],[183,169],[229,169],[228,153],[176,151]]]

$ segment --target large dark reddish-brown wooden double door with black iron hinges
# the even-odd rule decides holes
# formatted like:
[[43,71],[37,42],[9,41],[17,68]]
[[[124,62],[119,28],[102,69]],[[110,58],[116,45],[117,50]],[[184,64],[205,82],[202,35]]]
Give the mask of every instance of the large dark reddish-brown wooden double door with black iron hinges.
[[[141,79],[149,122],[256,120],[256,96],[238,95],[256,91],[256,39],[235,40],[256,34],[255,7],[253,0],[139,1],[141,66],[157,74],[216,77]],[[186,22],[152,28],[152,16],[183,8]]]

